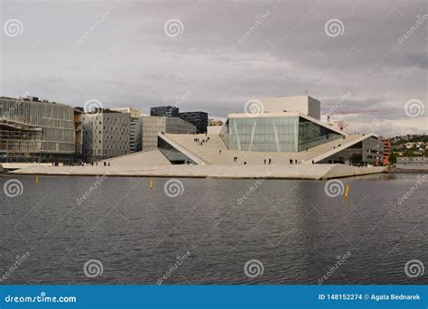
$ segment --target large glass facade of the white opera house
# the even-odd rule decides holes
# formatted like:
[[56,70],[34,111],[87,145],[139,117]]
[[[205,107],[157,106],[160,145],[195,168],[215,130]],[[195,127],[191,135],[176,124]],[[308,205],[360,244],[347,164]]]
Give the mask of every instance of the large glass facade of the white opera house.
[[229,149],[253,152],[298,152],[341,135],[298,116],[230,117],[220,137]]

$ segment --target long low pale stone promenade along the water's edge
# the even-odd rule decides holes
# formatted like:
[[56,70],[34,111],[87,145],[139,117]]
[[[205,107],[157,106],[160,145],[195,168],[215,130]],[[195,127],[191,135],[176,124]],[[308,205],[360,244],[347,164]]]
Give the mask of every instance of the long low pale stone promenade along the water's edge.
[[135,177],[193,177],[222,179],[312,179],[383,173],[385,167],[356,167],[343,164],[272,164],[272,165],[116,165],[26,167],[9,174],[102,175]]

